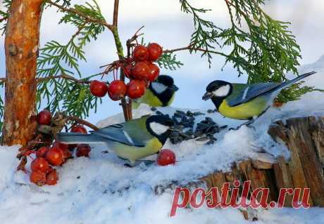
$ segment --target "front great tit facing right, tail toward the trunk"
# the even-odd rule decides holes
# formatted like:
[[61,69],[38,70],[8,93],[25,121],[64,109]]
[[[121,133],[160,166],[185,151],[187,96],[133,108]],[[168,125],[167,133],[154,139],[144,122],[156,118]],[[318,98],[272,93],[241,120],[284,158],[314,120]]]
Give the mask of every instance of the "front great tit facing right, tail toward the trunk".
[[106,126],[89,134],[58,133],[56,139],[66,144],[103,143],[118,157],[135,160],[155,154],[170,136],[173,120],[165,115],[144,116],[121,124]]

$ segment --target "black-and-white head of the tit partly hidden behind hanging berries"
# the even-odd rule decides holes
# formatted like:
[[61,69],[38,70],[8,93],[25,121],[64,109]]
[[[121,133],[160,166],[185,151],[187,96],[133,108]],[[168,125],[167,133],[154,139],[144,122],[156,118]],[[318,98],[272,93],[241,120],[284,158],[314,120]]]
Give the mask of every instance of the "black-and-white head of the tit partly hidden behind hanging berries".
[[161,74],[156,81],[151,82],[149,89],[163,103],[163,106],[166,106],[179,88],[175,86],[172,77]]

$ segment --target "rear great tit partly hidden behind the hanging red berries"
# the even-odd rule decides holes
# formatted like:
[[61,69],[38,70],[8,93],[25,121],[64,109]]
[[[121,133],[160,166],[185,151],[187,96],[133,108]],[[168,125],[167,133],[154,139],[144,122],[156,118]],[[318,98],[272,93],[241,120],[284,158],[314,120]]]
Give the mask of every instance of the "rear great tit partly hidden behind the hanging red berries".
[[151,107],[166,107],[173,103],[175,92],[178,90],[175,86],[173,78],[168,75],[161,74],[156,81],[151,82],[145,94],[134,100],[132,107],[136,109],[141,103],[145,103]]

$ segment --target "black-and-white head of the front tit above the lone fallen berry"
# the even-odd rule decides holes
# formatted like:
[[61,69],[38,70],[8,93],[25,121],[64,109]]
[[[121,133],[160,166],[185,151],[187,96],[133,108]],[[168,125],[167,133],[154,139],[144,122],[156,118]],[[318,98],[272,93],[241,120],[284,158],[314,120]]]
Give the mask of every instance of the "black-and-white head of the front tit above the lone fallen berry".
[[166,143],[171,133],[170,127],[173,125],[173,120],[166,115],[152,115],[147,118],[147,130],[162,144]]

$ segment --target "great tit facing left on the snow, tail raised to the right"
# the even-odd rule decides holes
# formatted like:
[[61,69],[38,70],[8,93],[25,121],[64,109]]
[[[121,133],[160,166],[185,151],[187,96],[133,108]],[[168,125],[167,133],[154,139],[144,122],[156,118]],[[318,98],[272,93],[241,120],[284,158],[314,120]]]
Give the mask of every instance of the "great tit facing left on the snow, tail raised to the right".
[[315,73],[301,74],[282,83],[231,84],[216,80],[208,84],[202,99],[211,99],[218,112],[225,117],[253,122],[256,117],[268,110],[283,88]]

